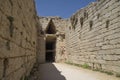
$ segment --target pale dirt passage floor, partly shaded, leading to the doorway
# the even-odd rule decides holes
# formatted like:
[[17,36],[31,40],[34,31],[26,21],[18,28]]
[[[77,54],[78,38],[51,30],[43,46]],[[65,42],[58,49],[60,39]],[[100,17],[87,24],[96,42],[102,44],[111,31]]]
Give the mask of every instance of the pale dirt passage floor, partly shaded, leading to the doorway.
[[120,80],[120,78],[63,63],[46,63],[40,64],[29,80]]

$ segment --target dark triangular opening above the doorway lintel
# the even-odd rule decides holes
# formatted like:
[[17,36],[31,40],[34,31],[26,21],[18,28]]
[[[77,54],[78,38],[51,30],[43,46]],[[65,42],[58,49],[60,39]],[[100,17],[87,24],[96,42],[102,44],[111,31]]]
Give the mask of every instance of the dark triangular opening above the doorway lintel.
[[47,34],[55,34],[55,33],[56,33],[56,28],[55,28],[55,25],[54,25],[52,19],[51,19],[50,22],[48,23],[48,26],[47,26],[45,32],[46,32]]

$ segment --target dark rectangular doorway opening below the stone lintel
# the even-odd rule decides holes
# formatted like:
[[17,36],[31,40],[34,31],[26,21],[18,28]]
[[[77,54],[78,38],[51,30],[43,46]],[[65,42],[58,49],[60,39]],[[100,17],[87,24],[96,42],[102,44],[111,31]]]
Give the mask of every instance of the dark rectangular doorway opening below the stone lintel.
[[55,61],[55,41],[46,42],[46,62]]

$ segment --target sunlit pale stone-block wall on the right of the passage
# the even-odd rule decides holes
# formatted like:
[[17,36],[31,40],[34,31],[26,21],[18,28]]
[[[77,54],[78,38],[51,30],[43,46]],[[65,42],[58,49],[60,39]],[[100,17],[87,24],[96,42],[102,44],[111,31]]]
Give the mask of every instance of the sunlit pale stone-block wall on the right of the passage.
[[120,74],[120,0],[77,11],[66,28],[67,61]]

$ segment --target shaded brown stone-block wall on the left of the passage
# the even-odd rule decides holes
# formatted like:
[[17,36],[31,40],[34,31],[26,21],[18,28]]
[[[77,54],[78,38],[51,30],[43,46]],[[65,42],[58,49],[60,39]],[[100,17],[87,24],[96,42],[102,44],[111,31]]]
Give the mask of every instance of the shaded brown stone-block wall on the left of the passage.
[[0,0],[0,80],[23,80],[36,61],[34,0]]

